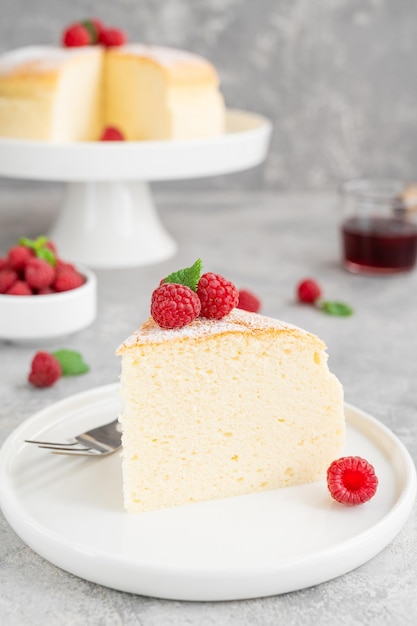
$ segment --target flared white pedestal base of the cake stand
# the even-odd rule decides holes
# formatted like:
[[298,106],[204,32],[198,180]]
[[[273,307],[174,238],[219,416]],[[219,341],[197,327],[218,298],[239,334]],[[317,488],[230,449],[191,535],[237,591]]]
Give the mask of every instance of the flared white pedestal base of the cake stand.
[[94,268],[149,265],[177,250],[145,182],[67,183],[48,236],[63,259]]

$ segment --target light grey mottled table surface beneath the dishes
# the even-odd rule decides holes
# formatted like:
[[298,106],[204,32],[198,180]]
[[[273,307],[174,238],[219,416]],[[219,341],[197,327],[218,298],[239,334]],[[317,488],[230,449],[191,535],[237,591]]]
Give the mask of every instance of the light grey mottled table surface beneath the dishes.
[[[0,254],[21,235],[49,228],[61,188],[0,187]],[[334,194],[157,190],[177,255],[158,265],[102,270],[98,317],[51,345],[0,343],[0,444],[36,411],[79,391],[117,381],[115,348],[149,312],[159,279],[201,257],[262,299],[262,312],[318,334],[345,399],[388,426],[417,459],[417,270],[357,276],[340,265]],[[316,278],[329,299],[351,304],[351,318],[330,317],[294,298],[297,282]],[[48,389],[27,383],[37,349],[82,352],[91,370]],[[28,548],[0,514],[0,622],[31,624],[275,625],[414,624],[417,619],[417,509],[396,539],[353,572],[309,589],[247,601],[187,603],[107,589],[68,574]]]

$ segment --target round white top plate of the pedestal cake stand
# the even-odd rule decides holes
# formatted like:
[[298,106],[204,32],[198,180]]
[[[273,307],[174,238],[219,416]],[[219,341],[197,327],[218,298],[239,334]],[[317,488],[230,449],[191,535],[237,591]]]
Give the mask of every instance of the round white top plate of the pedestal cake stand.
[[48,181],[155,181],[228,174],[261,163],[272,124],[229,109],[217,137],[52,143],[0,137],[0,175]]

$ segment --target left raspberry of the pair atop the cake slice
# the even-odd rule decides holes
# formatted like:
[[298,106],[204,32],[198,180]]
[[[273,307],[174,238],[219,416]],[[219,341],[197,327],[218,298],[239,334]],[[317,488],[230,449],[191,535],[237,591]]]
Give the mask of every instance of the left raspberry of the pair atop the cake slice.
[[161,328],[181,328],[200,313],[198,295],[186,285],[165,283],[152,294],[151,315]]

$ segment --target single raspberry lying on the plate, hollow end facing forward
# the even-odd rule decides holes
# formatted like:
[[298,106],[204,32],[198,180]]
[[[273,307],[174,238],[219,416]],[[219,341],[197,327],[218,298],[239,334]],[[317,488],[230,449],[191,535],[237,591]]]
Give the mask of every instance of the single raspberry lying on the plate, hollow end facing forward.
[[327,486],[337,502],[363,504],[375,495],[378,478],[368,461],[360,456],[345,456],[330,465]]

